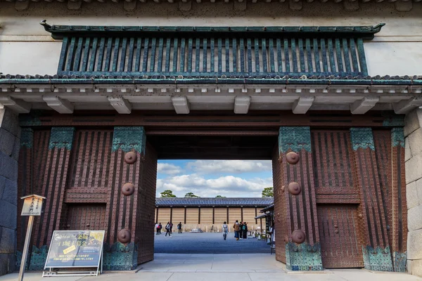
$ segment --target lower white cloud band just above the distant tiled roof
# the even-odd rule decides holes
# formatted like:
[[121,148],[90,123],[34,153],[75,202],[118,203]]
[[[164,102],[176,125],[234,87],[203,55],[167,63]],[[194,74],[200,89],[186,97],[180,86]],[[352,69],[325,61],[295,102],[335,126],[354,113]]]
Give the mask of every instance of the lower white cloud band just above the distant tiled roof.
[[261,197],[262,190],[272,185],[272,178],[246,180],[236,176],[222,176],[205,179],[198,174],[190,174],[158,179],[157,194],[159,196],[163,190],[170,189],[178,197],[183,197],[186,192],[193,192],[200,197]]

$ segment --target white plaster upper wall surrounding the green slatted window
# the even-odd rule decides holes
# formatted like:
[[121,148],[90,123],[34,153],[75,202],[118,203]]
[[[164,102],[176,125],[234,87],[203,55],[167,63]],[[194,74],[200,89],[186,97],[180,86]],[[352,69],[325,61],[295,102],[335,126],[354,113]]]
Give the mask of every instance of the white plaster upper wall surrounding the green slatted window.
[[67,3],[31,2],[24,12],[14,4],[0,6],[0,72],[4,74],[55,74],[60,43],[52,43],[39,25],[46,19],[56,25],[376,25],[385,22],[376,39],[366,41],[370,75],[422,75],[422,3],[410,12],[397,12],[393,3],[360,3],[359,11],[347,12],[343,4],[319,1],[292,11],[288,3],[248,3],[245,11],[234,4],[192,4],[180,11],[179,4],[138,3],[127,12],[122,3],[83,3],[82,9],[68,10]]

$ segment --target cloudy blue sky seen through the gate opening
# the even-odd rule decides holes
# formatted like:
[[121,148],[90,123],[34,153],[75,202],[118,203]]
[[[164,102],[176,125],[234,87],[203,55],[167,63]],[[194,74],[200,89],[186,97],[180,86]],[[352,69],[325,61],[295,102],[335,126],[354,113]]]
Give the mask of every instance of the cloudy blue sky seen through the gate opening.
[[177,197],[261,197],[272,186],[269,160],[159,160],[157,197],[170,189]]

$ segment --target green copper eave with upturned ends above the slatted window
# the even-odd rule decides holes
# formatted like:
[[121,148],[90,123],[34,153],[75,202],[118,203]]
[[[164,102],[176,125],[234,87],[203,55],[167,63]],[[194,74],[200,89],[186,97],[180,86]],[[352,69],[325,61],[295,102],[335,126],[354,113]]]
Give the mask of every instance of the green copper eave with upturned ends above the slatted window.
[[[379,23],[374,26],[273,26],[273,27],[193,27],[193,26],[92,26],[92,25],[49,25],[46,20],[40,22],[46,32],[51,33],[54,39],[63,39],[63,37],[77,34],[79,36],[120,36],[120,35],[157,35],[163,34],[227,34],[234,36],[246,32],[248,37],[255,34],[278,34],[281,36],[300,36],[309,37],[359,37],[362,39],[373,39],[374,34],[381,31],[385,23]],[[195,36],[195,35],[194,35]],[[261,35],[262,36],[262,35]]]

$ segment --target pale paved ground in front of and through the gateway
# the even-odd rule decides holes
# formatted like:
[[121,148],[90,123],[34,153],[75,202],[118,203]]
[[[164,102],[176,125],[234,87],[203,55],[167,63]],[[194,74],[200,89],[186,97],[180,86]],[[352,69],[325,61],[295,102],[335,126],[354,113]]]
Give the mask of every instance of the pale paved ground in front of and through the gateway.
[[[27,273],[25,281],[422,281],[405,273],[377,273],[364,269],[338,269],[313,272],[286,270],[269,254],[155,254],[135,273],[104,273],[98,277],[41,277]],[[18,273],[0,281],[16,280]]]

